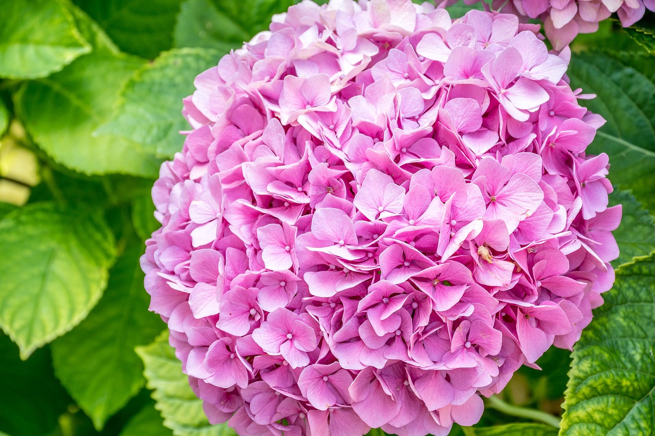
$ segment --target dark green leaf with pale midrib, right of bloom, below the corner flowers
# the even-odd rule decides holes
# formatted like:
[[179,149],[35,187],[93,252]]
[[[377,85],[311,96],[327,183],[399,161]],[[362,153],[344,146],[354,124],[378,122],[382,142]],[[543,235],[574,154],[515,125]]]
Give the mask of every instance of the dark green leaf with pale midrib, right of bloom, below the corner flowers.
[[607,119],[588,153],[607,153],[612,183],[655,210],[655,57],[584,52],[568,74],[573,88],[597,95],[582,103]]

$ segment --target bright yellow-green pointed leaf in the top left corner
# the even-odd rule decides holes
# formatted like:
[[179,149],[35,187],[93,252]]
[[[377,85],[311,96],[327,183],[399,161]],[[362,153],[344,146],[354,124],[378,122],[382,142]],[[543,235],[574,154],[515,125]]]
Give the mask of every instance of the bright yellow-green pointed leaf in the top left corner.
[[35,79],[91,51],[62,3],[5,1],[0,14],[0,77]]

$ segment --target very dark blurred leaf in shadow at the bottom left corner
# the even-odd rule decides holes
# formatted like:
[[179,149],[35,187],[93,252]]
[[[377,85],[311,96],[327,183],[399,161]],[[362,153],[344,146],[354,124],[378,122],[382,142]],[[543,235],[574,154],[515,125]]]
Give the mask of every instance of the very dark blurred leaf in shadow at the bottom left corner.
[[0,333],[0,435],[45,435],[70,401],[54,377],[47,349],[21,361],[16,344]]

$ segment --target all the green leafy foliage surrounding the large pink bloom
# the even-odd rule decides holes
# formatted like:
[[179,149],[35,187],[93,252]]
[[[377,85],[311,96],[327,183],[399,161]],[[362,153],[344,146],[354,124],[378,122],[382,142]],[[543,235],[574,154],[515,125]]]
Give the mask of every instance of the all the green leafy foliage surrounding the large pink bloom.
[[[139,257],[194,77],[291,4],[3,2],[0,435],[233,434],[208,424],[147,311]],[[653,15],[578,37],[568,73],[608,120],[589,153],[610,155],[610,202],[624,207],[616,285],[572,354],[552,349],[543,371],[519,370],[479,424],[453,435],[655,431]]]

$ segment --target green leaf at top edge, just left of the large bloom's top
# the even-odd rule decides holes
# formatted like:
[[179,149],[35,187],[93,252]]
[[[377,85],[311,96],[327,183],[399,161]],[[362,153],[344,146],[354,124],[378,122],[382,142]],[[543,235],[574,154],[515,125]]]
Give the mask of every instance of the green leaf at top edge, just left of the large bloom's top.
[[173,45],[227,53],[267,30],[271,16],[291,5],[292,0],[187,0],[179,12]]

